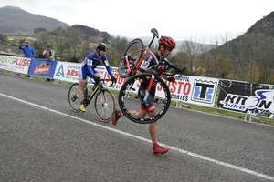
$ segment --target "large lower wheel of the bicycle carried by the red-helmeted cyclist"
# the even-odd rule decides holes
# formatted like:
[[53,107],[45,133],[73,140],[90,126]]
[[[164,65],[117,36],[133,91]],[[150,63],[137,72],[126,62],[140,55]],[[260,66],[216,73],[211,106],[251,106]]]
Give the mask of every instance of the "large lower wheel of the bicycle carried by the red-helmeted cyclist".
[[[139,86],[143,80],[149,80],[152,74],[140,74],[130,77],[122,86],[118,97],[119,106],[124,116],[135,123],[149,124],[159,120],[168,110],[171,102],[171,94],[168,86],[161,77],[155,76],[156,94],[149,97],[155,107],[153,116],[138,116],[141,110],[141,100]],[[142,108],[143,109],[143,108]]]

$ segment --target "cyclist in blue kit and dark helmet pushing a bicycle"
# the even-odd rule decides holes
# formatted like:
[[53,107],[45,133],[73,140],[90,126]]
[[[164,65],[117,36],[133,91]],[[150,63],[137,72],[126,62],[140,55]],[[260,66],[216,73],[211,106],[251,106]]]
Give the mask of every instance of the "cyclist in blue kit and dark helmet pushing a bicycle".
[[99,45],[97,45],[96,51],[90,52],[88,56],[85,57],[79,69],[79,109],[82,112],[86,111],[86,108],[84,106],[84,87],[87,84],[87,76],[93,78],[95,84],[97,84],[100,76],[95,68],[99,66],[101,62],[106,67],[109,75],[111,76],[111,81],[113,83],[116,83],[116,78],[111,72],[111,66],[106,56],[106,45],[100,43]]

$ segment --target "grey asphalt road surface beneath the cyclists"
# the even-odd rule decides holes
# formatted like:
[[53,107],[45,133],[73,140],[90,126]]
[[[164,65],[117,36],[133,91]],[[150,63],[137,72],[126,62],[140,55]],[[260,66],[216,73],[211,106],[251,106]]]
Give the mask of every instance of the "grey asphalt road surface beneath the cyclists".
[[[46,79],[45,79],[46,80]],[[170,108],[148,126],[74,113],[68,86],[0,73],[0,181],[274,181],[274,127]]]

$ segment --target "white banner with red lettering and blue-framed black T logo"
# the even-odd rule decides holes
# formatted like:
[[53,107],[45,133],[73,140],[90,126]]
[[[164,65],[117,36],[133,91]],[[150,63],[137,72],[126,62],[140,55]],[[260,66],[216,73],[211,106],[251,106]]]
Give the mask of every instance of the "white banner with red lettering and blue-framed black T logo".
[[[111,79],[104,66],[99,66],[102,77]],[[113,75],[117,78],[117,83],[113,86],[114,89],[120,90],[126,78],[119,76],[117,67],[111,67]],[[201,76],[175,76],[175,82],[166,81],[169,87],[172,100],[182,101],[200,106],[214,106],[216,98],[216,90],[218,86],[218,79]],[[111,82],[110,82],[111,83]],[[133,88],[138,90],[140,83],[134,83]],[[137,91],[136,91],[137,92]],[[163,88],[157,85],[157,97],[164,98]]]

